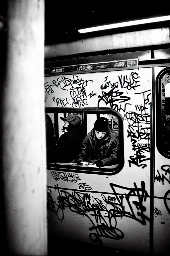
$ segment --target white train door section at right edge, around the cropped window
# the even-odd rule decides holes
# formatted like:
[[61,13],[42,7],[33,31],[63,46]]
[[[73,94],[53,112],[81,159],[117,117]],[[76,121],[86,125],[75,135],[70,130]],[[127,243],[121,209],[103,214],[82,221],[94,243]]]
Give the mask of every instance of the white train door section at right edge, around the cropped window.
[[155,72],[154,253],[169,253],[170,241],[170,67]]

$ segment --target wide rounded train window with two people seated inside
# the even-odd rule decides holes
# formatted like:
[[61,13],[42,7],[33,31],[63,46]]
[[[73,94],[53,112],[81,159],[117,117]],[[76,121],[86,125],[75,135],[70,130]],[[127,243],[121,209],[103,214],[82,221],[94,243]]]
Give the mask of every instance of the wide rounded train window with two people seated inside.
[[118,112],[111,108],[46,108],[45,115],[51,119],[46,122],[46,145],[49,138],[53,141],[47,147],[48,169],[111,175],[122,170],[123,119]]

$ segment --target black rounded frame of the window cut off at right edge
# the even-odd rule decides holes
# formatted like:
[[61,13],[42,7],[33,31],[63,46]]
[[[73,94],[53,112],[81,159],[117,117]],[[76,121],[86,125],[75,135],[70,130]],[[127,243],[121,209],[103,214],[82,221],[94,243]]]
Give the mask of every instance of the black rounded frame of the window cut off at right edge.
[[156,147],[159,153],[170,159],[170,151],[166,150],[164,148],[163,140],[160,140],[163,137],[163,122],[162,122],[162,93],[161,93],[161,80],[163,76],[170,72],[170,67],[166,67],[163,70],[161,70],[155,81],[155,103],[156,103]]

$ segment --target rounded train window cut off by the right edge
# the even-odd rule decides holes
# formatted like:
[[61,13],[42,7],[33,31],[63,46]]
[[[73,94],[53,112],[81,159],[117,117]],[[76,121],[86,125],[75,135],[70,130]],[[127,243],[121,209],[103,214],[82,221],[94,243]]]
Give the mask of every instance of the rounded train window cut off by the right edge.
[[163,69],[156,78],[156,127],[157,148],[170,158],[170,68]]

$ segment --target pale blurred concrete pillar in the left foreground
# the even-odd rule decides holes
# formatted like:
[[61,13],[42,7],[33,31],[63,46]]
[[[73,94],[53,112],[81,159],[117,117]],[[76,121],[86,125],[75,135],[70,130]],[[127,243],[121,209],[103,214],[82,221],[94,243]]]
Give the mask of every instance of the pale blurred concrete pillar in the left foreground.
[[44,0],[9,0],[7,23],[2,166],[8,248],[12,255],[47,255]]

